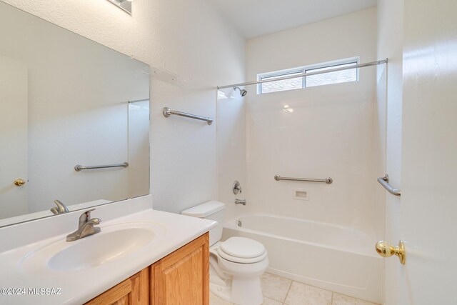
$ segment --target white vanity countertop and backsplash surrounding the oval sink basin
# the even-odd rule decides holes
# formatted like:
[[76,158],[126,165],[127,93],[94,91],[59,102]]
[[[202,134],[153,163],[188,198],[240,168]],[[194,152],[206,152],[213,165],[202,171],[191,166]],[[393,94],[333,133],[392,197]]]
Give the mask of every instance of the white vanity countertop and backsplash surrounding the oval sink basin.
[[[81,213],[82,211],[75,211],[0,229],[0,239],[4,241],[0,244],[1,287],[61,288],[61,295],[58,296],[0,296],[0,303],[37,304],[39,300],[38,302],[43,304],[84,304],[216,225],[214,221],[154,211],[150,195],[119,201],[99,206],[92,212],[92,217],[99,217],[102,221],[99,225],[101,234],[104,228],[109,230],[113,225],[127,226],[130,223],[139,226],[139,224],[153,223],[161,229],[156,232],[156,237],[149,244],[114,261],[107,261],[86,269],[53,271],[44,267],[41,272],[33,266],[21,264],[25,256],[38,253],[38,249],[65,241],[66,235],[77,229]],[[11,236],[14,236],[14,239]],[[96,239],[97,236],[99,235],[88,236],[73,243]],[[76,245],[61,244],[64,247]]]

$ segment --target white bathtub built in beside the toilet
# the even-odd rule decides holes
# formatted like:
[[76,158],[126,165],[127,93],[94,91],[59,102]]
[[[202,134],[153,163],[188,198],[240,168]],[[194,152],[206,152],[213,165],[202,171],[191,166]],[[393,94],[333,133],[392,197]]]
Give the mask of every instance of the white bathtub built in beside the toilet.
[[[241,226],[238,226],[241,221]],[[373,233],[317,221],[266,214],[224,224],[223,240],[244,236],[265,245],[268,272],[383,304],[383,264]]]

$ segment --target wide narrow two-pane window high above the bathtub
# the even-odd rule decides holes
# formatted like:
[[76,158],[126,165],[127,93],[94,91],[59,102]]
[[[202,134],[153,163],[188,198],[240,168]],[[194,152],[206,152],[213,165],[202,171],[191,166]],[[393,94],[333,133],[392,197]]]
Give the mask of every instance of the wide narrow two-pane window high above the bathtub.
[[257,94],[267,94],[271,92],[286,91],[293,89],[303,89],[312,86],[323,86],[328,84],[346,83],[348,81],[358,81],[357,69],[348,69],[342,71],[334,71],[323,74],[300,77],[300,75],[312,72],[321,72],[331,69],[343,68],[347,66],[355,66],[358,64],[358,58],[344,59],[340,61],[332,61],[330,63],[316,64],[313,66],[301,66],[295,69],[269,72],[258,74],[259,81],[267,79],[277,79],[284,76],[298,76],[296,78],[284,79],[281,81],[270,81],[268,83],[258,84]]

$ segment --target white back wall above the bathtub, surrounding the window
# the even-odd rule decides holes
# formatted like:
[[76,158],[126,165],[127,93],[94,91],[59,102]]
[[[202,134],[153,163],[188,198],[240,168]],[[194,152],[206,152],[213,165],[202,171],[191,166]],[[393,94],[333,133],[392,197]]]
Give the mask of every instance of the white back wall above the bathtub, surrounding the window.
[[[376,60],[376,9],[247,42],[246,79],[256,74],[360,56]],[[376,69],[360,81],[256,95],[247,104],[248,209],[373,229]],[[290,106],[293,113],[282,111]],[[333,184],[274,181],[324,178]],[[309,201],[293,199],[306,189]]]

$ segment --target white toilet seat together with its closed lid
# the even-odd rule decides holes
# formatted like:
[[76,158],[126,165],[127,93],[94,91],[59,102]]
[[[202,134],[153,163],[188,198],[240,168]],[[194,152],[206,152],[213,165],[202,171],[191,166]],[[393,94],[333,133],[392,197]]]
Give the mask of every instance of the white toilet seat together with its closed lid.
[[266,249],[263,244],[245,237],[231,237],[224,241],[217,253],[227,261],[241,264],[253,264],[266,259]]

